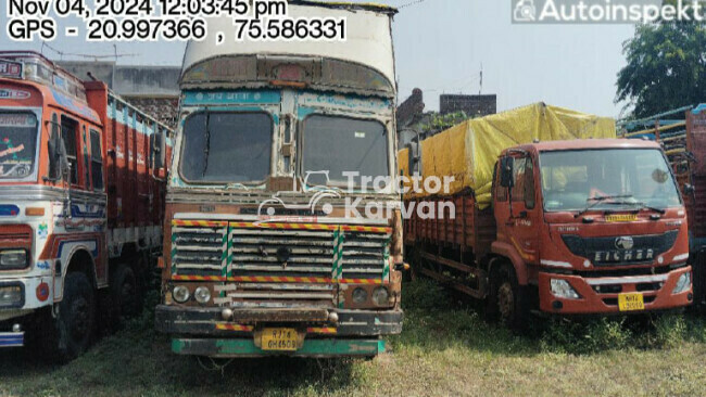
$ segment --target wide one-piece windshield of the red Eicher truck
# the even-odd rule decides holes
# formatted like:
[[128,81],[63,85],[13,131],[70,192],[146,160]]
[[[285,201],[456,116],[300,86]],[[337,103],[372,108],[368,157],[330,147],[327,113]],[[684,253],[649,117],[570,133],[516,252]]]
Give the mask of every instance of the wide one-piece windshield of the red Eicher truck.
[[547,212],[681,205],[669,165],[655,149],[542,152],[540,164]]

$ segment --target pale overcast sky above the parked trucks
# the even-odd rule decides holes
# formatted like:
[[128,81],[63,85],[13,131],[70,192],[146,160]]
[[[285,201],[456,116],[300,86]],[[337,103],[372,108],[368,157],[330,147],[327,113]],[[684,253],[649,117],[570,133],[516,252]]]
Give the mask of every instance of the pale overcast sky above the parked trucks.
[[[625,65],[622,42],[634,27],[514,25],[510,8],[509,0],[421,0],[402,8],[393,25],[400,100],[418,87],[427,110],[438,110],[441,93],[478,93],[482,64],[482,93],[497,94],[499,111],[543,101],[618,116],[622,106],[614,103],[616,74]],[[4,26],[7,21],[0,22]],[[4,33],[0,41],[3,50],[41,49],[40,42],[9,42]],[[80,38],[50,44],[66,53],[114,52],[110,43],[87,44]],[[179,65],[184,52],[178,42],[116,46],[118,54],[135,54],[119,57],[122,64]],[[48,49],[45,53],[59,57]]]

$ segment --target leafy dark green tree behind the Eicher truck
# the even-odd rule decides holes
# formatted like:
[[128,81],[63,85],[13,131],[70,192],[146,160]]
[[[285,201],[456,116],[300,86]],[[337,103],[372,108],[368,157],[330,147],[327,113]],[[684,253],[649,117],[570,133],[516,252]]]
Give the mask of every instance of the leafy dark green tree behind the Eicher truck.
[[623,43],[628,65],[618,73],[616,102],[629,100],[640,118],[706,102],[706,25],[638,25]]

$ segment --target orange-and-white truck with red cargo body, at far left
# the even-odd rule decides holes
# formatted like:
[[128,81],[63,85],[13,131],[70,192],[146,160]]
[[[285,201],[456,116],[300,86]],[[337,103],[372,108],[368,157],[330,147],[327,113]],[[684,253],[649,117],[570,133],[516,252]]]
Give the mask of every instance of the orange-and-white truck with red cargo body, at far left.
[[139,308],[168,133],[101,81],[0,53],[0,347],[70,360]]

